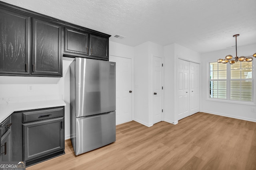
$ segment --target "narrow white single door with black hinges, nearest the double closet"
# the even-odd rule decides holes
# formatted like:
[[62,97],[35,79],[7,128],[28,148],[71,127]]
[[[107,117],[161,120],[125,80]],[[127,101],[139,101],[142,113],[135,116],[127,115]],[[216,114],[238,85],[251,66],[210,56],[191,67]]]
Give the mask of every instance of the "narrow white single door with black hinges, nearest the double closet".
[[162,121],[162,58],[153,56],[153,124]]

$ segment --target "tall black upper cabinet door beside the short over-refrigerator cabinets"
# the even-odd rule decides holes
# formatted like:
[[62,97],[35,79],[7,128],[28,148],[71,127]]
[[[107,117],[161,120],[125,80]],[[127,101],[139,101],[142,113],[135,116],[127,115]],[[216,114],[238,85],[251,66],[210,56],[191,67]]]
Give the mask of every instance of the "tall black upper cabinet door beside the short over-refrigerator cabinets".
[[62,26],[33,18],[32,74],[62,75]]

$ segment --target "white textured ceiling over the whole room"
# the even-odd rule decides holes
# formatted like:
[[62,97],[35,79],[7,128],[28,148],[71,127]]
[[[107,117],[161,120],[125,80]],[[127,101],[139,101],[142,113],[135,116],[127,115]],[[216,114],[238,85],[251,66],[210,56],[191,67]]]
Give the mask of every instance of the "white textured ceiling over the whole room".
[[[256,0],[2,0],[136,46],[177,43],[205,53],[256,43]],[[120,40],[114,35],[123,35]]]

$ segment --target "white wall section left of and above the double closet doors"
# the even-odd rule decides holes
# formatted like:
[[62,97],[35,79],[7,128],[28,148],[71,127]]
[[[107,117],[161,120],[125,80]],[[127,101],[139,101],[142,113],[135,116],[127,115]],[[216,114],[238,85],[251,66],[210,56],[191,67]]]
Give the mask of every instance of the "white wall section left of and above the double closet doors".
[[178,123],[178,59],[201,63],[200,54],[178,44],[164,46],[164,121]]

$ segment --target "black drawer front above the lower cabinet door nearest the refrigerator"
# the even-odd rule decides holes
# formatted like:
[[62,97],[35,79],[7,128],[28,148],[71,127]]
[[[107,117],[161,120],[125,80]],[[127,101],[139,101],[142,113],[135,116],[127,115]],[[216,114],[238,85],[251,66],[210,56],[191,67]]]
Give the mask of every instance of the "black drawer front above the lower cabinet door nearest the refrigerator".
[[49,119],[53,117],[64,116],[64,107],[55,107],[51,109],[37,109],[33,111],[24,111],[23,123],[29,121],[38,121],[43,119]]

